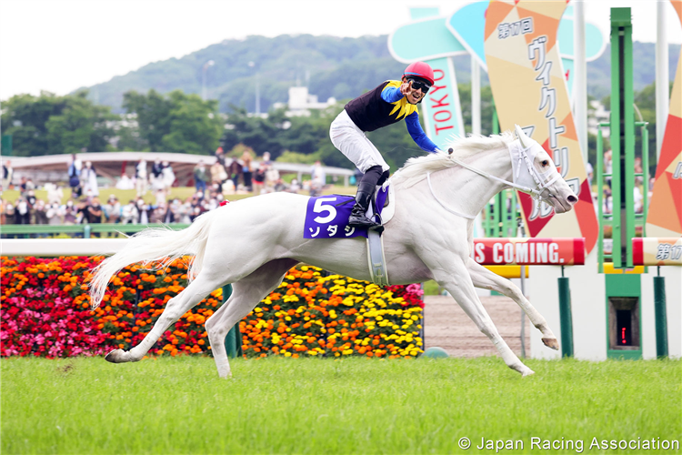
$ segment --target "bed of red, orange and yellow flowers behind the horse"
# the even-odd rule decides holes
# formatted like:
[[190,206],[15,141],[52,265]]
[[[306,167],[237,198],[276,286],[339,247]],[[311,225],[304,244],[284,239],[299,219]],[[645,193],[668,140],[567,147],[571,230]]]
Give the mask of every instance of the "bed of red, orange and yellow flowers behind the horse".
[[[0,258],[0,356],[101,355],[130,349],[165,303],[186,286],[186,264],[164,270],[128,266],[91,311],[89,269],[102,258]],[[280,355],[415,357],[421,352],[418,285],[379,288],[319,268],[297,266],[240,322],[246,357]],[[204,323],[219,308],[217,289],[187,311],[150,353],[210,351]]]

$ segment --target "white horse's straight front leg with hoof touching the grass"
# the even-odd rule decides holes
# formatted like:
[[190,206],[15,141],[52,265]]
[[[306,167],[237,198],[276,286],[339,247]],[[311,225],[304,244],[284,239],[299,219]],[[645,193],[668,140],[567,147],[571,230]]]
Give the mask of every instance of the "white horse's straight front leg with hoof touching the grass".
[[[431,251],[433,254],[433,251]],[[476,295],[474,283],[471,281],[469,272],[466,268],[467,258],[460,258],[458,256],[450,258],[435,258],[429,260],[422,258],[426,266],[431,269],[436,282],[446,288],[447,291],[455,298],[457,304],[464,309],[466,315],[471,318],[476,324],[476,327],[483,332],[488,339],[490,339],[500,357],[505,361],[506,366],[510,369],[516,369],[523,376],[528,376],[534,373],[526,365],[517,358],[517,355],[509,349],[506,342],[500,336],[493,320],[488,316],[486,308],[483,307],[480,299]],[[429,262],[431,262],[429,264]]]

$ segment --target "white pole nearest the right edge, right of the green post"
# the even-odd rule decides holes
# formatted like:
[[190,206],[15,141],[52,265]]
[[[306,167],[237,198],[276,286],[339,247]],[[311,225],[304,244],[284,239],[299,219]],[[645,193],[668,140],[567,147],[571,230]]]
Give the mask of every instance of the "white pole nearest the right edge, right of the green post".
[[668,61],[666,35],[666,3],[656,2],[656,159],[661,155],[668,112]]

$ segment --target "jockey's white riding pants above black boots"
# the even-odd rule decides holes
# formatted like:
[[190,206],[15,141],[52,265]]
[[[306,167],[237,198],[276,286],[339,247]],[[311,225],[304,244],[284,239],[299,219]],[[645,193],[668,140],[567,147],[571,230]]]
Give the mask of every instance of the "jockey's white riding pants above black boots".
[[365,133],[353,123],[346,109],[336,116],[329,128],[329,136],[334,147],[341,150],[354,165],[362,172],[374,166],[380,166],[383,171],[390,167],[386,164],[384,157],[374,147],[374,144],[367,139]]

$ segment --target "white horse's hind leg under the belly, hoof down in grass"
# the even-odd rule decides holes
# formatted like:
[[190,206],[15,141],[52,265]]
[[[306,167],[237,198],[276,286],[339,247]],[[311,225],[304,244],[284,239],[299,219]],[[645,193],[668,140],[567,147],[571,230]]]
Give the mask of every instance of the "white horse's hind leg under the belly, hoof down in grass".
[[206,320],[206,331],[211,341],[211,351],[216,360],[218,376],[227,378],[231,375],[230,363],[225,349],[227,332],[244,319],[258,302],[282,283],[286,271],[296,266],[294,259],[272,260],[256,271],[233,283],[232,296],[216,313]]

